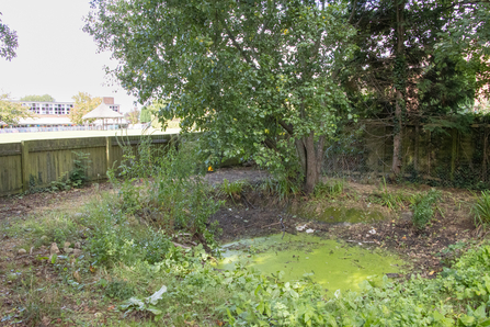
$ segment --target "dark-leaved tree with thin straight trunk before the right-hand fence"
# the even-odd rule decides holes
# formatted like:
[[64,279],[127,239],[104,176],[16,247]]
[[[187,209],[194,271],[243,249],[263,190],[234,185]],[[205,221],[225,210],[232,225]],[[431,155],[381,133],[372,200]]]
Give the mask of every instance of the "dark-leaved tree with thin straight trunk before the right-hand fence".
[[[458,110],[472,99],[475,74],[464,68],[461,52],[436,52],[455,18],[448,1],[351,0],[351,22],[358,27],[358,49],[344,83],[364,116],[392,127],[391,171],[402,168],[401,136],[407,122],[418,124]],[[460,69],[458,69],[458,67]]]

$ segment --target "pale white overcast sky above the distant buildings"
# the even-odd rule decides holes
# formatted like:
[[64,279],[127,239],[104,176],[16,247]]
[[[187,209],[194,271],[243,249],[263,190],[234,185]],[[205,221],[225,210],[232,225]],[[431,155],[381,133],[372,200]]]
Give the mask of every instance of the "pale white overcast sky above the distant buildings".
[[89,0],[0,0],[0,20],[19,38],[16,57],[0,58],[0,93],[13,99],[49,94],[72,102],[81,91],[114,97],[121,111],[129,112],[136,98],[104,71],[116,63],[110,53],[98,54],[92,36],[82,31],[89,11]]

